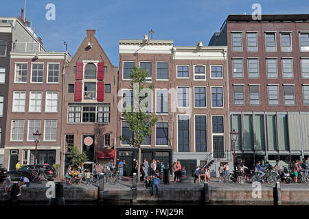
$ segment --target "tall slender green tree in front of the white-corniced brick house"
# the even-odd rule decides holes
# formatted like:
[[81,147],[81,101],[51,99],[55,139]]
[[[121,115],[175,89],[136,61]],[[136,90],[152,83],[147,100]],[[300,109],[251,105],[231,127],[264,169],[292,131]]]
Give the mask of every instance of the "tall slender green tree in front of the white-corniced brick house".
[[140,166],[141,166],[141,144],[145,141],[146,136],[150,136],[152,133],[152,127],[157,122],[157,116],[153,116],[151,113],[147,113],[148,97],[151,100],[153,83],[146,83],[146,77],[148,76],[148,70],[143,70],[139,66],[134,66],[130,73],[130,88],[133,90],[134,101],[130,107],[124,106],[124,112],[122,117],[128,123],[128,129],[132,131],[133,136],[119,136],[121,140],[126,141],[127,144],[138,148],[138,170],[137,170],[137,182],[140,181]]

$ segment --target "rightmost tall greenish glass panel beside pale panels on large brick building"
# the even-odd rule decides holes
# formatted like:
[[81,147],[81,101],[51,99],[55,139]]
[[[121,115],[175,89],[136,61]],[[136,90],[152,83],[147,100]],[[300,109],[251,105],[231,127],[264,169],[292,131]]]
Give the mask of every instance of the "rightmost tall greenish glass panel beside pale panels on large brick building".
[[288,116],[278,115],[279,150],[288,151]]

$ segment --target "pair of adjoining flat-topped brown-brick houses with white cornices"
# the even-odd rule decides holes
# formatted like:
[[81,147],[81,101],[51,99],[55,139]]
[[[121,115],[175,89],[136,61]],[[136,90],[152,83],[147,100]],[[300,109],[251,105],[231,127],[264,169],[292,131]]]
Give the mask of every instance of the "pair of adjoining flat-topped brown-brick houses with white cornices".
[[[141,146],[141,159],[163,160],[172,170],[179,160],[187,172],[210,157],[227,161],[229,114],[227,47],[176,47],[172,40],[119,40],[119,105],[117,136],[132,136],[122,112],[133,105],[130,71],[148,70],[154,83],[147,112],[158,121]],[[117,159],[125,159],[125,175],[132,175],[138,149],[117,140]],[[230,153],[229,153],[230,154]]]

